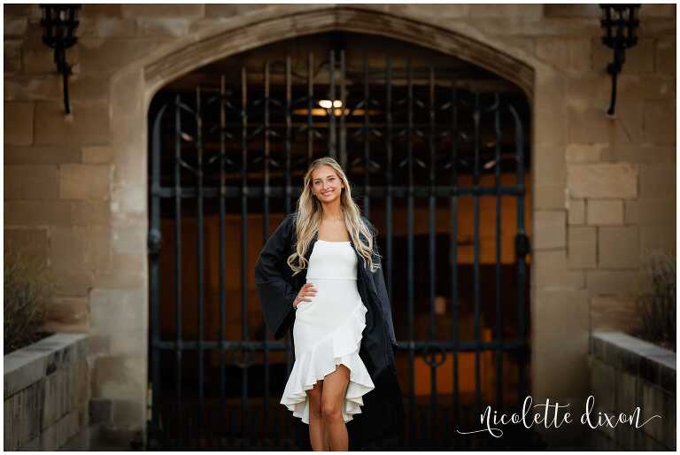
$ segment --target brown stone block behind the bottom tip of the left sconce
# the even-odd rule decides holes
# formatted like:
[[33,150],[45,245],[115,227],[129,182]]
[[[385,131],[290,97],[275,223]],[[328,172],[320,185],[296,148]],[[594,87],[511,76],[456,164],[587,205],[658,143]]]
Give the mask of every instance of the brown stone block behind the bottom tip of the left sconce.
[[88,145],[106,143],[109,138],[109,106],[106,102],[71,103],[66,115],[61,102],[44,101],[35,106],[35,143]]

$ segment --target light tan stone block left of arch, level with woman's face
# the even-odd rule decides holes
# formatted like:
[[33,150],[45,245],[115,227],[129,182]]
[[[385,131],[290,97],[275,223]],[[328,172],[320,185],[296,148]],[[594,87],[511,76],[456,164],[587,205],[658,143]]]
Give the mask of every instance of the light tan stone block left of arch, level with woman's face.
[[59,168],[62,199],[108,199],[111,189],[109,165],[63,165]]

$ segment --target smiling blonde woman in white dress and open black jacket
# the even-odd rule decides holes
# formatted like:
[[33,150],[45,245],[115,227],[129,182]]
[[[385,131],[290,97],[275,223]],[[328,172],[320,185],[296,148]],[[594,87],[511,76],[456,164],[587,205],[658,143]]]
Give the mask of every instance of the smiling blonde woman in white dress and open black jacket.
[[[281,404],[309,425],[313,450],[347,451],[349,436],[357,447],[399,436],[397,342],[375,228],[334,158],[307,170],[298,211],[267,240],[255,282],[274,338],[292,335]],[[348,432],[354,416],[359,425]]]

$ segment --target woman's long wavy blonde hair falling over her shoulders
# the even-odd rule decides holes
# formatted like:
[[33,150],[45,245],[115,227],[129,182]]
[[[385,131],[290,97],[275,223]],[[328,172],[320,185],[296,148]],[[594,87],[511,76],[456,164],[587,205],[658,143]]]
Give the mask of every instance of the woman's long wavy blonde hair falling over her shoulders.
[[[352,188],[343,168],[334,158],[330,157],[315,159],[305,174],[305,186],[298,199],[298,217],[295,223],[298,242],[295,245],[295,252],[288,257],[286,262],[293,270],[293,275],[302,272],[308,265],[305,254],[314,235],[319,231],[321,215],[323,214],[321,201],[314,197],[312,193],[312,173],[321,166],[332,167],[336,171],[337,177],[343,182],[344,190],[340,192],[340,207],[344,215],[344,224],[352,237],[354,248],[364,258],[364,266],[369,267],[371,272],[375,272],[376,269],[380,268],[380,264],[374,263],[373,255],[375,254],[378,258],[380,255],[375,251],[374,232],[361,220],[359,206],[352,199]],[[364,235],[367,244],[360,241],[359,234]]]

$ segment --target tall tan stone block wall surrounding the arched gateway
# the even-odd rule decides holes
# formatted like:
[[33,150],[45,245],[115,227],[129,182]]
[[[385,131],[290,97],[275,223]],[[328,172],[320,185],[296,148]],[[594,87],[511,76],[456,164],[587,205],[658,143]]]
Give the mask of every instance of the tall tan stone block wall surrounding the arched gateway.
[[38,6],[5,4],[5,239],[50,261],[61,282],[50,326],[93,335],[92,395],[132,437],[146,419],[152,96],[197,67],[293,36],[397,37],[526,91],[532,394],[581,401],[591,330],[629,324],[614,302],[632,302],[644,251],[675,250],[675,11],[643,5],[608,119],[612,51],[596,4],[85,4],[67,51],[65,116]]

